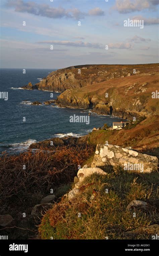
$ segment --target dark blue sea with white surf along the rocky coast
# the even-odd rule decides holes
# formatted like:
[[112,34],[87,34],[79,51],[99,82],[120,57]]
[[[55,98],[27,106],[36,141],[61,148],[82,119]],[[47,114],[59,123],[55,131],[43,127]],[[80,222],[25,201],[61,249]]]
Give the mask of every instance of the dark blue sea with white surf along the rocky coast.
[[[55,70],[55,69],[54,69]],[[31,105],[34,101],[50,100],[50,92],[23,90],[20,87],[41,81],[53,69],[0,69],[0,92],[8,92],[8,100],[0,98],[0,152],[20,152],[36,141],[65,135],[81,136],[93,127],[109,126],[117,117],[92,113],[90,123],[70,123],[70,116],[88,115],[90,110],[59,108],[51,105]],[[60,93],[53,92],[53,99]],[[25,122],[23,122],[25,117]]]

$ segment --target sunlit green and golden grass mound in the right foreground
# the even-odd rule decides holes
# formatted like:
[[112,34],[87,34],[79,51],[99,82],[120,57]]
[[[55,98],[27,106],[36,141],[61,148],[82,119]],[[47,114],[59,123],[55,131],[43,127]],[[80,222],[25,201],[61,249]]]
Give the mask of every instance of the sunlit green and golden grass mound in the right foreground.
[[[126,239],[124,232],[158,223],[158,182],[158,172],[130,173],[120,167],[107,176],[92,174],[85,178],[73,201],[65,198],[47,212],[39,226],[40,236],[42,239],[50,236],[53,239]],[[93,189],[97,196],[90,200]],[[154,207],[129,212],[126,206],[132,200],[143,200]],[[138,235],[138,239],[149,237],[145,233]]]

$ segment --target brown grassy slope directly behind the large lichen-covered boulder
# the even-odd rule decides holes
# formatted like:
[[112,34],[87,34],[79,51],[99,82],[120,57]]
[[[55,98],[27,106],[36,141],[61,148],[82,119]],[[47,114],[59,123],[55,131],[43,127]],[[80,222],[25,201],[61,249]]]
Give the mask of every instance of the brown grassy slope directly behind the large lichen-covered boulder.
[[[135,126],[135,125],[134,125]],[[131,128],[132,127],[132,128]],[[88,136],[88,144],[109,144],[145,150],[159,147],[159,116],[151,116],[137,124],[121,130],[98,130]]]

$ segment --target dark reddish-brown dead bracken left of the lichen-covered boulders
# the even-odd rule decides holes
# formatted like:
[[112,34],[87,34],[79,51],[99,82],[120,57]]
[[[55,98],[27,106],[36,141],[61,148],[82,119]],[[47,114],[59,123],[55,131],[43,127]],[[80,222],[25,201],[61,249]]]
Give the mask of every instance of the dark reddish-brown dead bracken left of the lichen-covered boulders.
[[[30,218],[32,208],[40,203],[42,197],[50,194],[50,189],[60,194],[64,185],[73,181],[78,165],[82,165],[91,152],[87,147],[62,146],[54,150],[41,148],[35,153],[30,150],[19,155],[2,155],[0,214],[10,214],[17,227],[36,231],[35,223]],[[26,214],[26,218],[22,217],[22,213]],[[33,232],[15,231],[15,228],[5,232],[9,233],[10,239],[33,236]]]

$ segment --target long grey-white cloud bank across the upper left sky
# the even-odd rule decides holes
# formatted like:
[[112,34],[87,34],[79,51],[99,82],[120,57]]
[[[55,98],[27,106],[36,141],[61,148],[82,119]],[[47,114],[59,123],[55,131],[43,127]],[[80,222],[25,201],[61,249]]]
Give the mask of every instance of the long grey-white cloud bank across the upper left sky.
[[90,10],[88,13],[82,12],[77,8],[64,9],[62,7],[52,7],[48,4],[38,4],[34,1],[24,2],[23,0],[8,0],[6,3],[7,7],[15,8],[17,12],[28,12],[37,16],[43,16],[51,19],[61,18],[74,18],[84,19],[86,16],[101,16],[104,15],[104,11],[99,7]]

